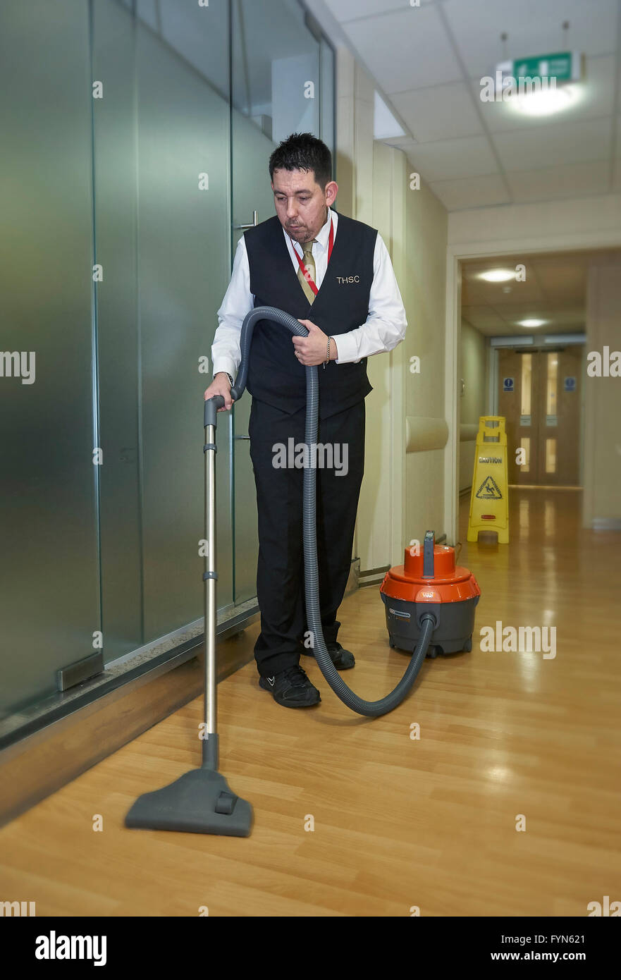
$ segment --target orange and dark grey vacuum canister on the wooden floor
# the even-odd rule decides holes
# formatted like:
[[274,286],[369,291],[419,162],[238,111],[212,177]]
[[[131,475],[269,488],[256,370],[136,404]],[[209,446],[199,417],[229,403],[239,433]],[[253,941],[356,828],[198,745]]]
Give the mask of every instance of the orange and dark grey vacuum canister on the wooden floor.
[[454,564],[454,548],[437,545],[435,539],[435,532],[427,531],[418,555],[406,548],[405,563],[387,571],[380,586],[391,647],[411,653],[421,616],[435,616],[427,657],[472,650],[474,611],[481,595],[472,572]]

